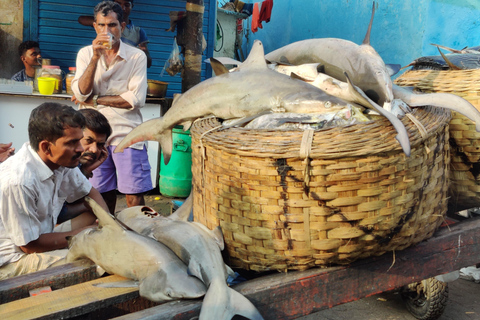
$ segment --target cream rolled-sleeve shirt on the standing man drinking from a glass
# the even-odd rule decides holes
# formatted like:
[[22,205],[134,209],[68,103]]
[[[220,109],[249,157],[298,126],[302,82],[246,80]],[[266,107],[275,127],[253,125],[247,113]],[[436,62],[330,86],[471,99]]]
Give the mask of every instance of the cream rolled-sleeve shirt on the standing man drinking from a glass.
[[[98,60],[93,90],[83,95],[78,88],[78,80],[85,72],[92,57],[93,47],[91,45],[78,52],[77,71],[72,80],[72,90],[80,101],[87,100],[92,93],[99,96],[119,95],[133,106],[130,109],[104,105],[97,107],[112,127],[112,135],[108,138],[107,144],[116,146],[132,129],[143,122],[140,108],[145,105],[147,97],[147,57],[142,50],[120,41],[117,56],[110,66],[107,67],[104,56]],[[82,108],[87,108],[87,106],[80,105],[80,109]],[[143,149],[143,145],[143,142],[140,142],[131,147]]]

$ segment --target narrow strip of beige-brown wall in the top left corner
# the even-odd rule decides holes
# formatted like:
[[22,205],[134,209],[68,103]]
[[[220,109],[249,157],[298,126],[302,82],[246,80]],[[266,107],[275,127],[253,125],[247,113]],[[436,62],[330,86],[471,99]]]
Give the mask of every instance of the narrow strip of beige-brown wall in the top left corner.
[[23,33],[23,0],[0,0],[0,78],[8,78],[23,68],[18,46]]

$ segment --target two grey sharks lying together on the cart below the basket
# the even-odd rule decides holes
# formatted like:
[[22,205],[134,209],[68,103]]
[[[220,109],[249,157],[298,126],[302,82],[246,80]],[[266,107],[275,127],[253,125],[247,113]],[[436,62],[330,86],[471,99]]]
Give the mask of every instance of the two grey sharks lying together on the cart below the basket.
[[99,226],[70,239],[66,262],[88,258],[109,274],[135,280],[113,286],[138,286],[142,297],[156,302],[205,295],[200,320],[229,320],[234,315],[263,319],[247,298],[227,285],[233,271],[223,262],[220,228],[211,231],[187,221],[192,196],[169,217],[136,206],[114,219],[94,200],[86,201]]

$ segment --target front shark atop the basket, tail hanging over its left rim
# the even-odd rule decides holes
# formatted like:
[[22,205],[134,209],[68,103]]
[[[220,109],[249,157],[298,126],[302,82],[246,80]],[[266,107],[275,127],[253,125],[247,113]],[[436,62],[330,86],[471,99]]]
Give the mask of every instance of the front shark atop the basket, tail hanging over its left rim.
[[122,152],[138,141],[155,140],[159,141],[167,164],[172,150],[172,128],[177,124],[183,124],[186,130],[192,121],[207,115],[232,119],[265,110],[321,113],[349,105],[351,103],[308,83],[268,69],[263,45],[257,40],[237,72],[225,72],[192,87],[173,101],[162,118],[149,120],[133,129],[115,152]]

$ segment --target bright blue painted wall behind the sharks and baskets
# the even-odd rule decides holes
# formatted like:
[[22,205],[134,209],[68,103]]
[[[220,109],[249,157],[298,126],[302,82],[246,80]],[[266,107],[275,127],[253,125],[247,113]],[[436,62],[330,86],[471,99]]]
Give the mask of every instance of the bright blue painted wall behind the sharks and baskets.
[[[267,53],[310,38],[361,44],[371,10],[372,1],[365,0],[276,0],[263,29],[252,33],[251,17],[244,21],[249,32],[243,51],[248,53],[255,39],[263,42]],[[420,56],[438,55],[430,43],[456,49],[480,45],[479,19],[480,2],[476,0],[377,0],[371,45],[385,63],[405,66]]]

